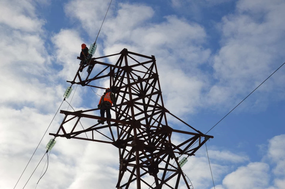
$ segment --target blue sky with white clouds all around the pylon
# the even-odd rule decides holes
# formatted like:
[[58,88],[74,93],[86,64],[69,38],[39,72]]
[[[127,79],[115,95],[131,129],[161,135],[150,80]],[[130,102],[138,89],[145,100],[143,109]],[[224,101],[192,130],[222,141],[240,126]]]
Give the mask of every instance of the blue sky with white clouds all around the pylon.
[[[15,186],[78,69],[80,45],[94,42],[109,3],[0,2],[0,188]],[[284,0],[113,0],[95,56],[123,48],[154,55],[165,107],[205,133],[284,63],[284,8]],[[214,136],[207,147],[216,188],[284,188],[284,69],[208,133]],[[91,109],[98,100],[79,86],[72,106]],[[58,114],[48,132],[62,118]],[[50,138],[44,137],[16,188]],[[60,138],[38,187],[114,188],[117,156],[107,145]],[[40,165],[27,188],[35,187]],[[212,189],[205,147],[183,169],[195,188]]]

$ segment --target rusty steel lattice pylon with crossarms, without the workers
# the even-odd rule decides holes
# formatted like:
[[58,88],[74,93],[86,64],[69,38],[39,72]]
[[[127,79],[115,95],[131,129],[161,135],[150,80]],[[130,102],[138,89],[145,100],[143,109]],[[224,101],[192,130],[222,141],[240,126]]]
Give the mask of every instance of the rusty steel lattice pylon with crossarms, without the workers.
[[[118,60],[116,57],[119,57]],[[114,61],[115,64],[99,61],[105,59],[108,62],[117,61]],[[134,188],[135,184],[137,189],[177,189],[182,184],[190,189],[178,158],[182,155],[194,156],[207,140],[205,138],[213,136],[204,135],[164,108],[155,57],[123,49],[118,54],[92,58],[89,64],[91,71],[95,66],[96,69],[102,68],[97,75],[91,77],[88,73],[86,79],[82,79],[79,68],[74,80],[67,82],[97,89],[106,88],[96,84],[110,82],[109,88],[117,101],[117,106],[111,107],[115,118],[95,116],[94,111],[99,108],[75,112],[61,110],[65,117],[58,131],[50,135],[103,142],[117,147],[120,162],[118,182],[114,184],[117,189]],[[170,127],[167,116],[187,126],[189,131]],[[82,129],[79,121],[83,118],[89,119],[89,122],[94,120],[96,124]],[[96,119],[106,121],[106,124],[101,125]],[[98,134],[101,137],[96,137]],[[184,142],[172,143],[172,135],[178,135]]]

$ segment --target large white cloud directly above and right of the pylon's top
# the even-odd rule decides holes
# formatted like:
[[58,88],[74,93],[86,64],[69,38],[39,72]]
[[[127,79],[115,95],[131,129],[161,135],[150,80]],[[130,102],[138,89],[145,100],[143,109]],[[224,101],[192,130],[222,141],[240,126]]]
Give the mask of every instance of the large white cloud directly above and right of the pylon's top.
[[[74,17],[77,17],[83,26],[90,28],[94,25],[92,20],[76,13],[75,7],[80,2],[72,1],[67,5],[68,15],[73,11]],[[87,11],[85,13],[87,14]],[[98,14],[96,11],[88,12],[88,15],[94,18],[98,17]],[[204,82],[207,82],[207,76],[196,68],[210,56],[210,50],[201,46],[206,41],[205,30],[196,23],[189,23],[176,16],[167,16],[162,23],[146,23],[153,14],[153,9],[144,5],[120,4],[118,14],[105,20],[100,33],[101,38],[102,34],[106,36],[103,37],[106,39],[104,53],[114,54],[128,48],[132,52],[155,55],[166,108],[180,116],[189,111],[194,112],[194,108],[200,105],[199,95]],[[189,63],[193,65],[193,69],[188,70]],[[173,70],[173,66],[176,69]],[[186,69],[183,71],[183,68]],[[196,76],[189,76],[191,73],[196,73]],[[197,73],[201,75],[197,76]],[[173,87],[168,87],[169,84]],[[176,108],[177,104],[182,107]]]

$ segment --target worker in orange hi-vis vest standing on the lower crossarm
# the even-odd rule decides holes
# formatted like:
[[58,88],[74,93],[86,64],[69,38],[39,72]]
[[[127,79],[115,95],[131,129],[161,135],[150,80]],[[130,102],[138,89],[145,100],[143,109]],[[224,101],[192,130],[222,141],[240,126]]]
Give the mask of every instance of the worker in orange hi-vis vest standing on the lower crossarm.
[[[100,98],[98,108],[100,108],[101,117],[105,117],[105,112],[107,114],[107,118],[111,118],[110,106],[116,106],[115,95],[112,93],[110,88],[107,88],[104,92],[104,95]],[[98,120],[98,123],[104,124],[104,121]]]

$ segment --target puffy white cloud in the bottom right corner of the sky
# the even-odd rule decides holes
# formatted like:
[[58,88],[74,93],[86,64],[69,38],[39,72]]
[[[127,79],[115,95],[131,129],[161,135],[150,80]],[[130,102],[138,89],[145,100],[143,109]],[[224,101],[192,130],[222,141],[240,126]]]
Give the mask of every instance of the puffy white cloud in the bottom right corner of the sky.
[[[269,158],[270,167],[265,162],[252,162],[246,166],[240,166],[234,172],[227,174],[219,185],[221,188],[267,188],[284,189],[284,134],[273,137],[269,140],[267,154],[264,157]],[[270,172],[273,172],[273,175]],[[273,177],[273,184],[270,186],[270,179]]]

